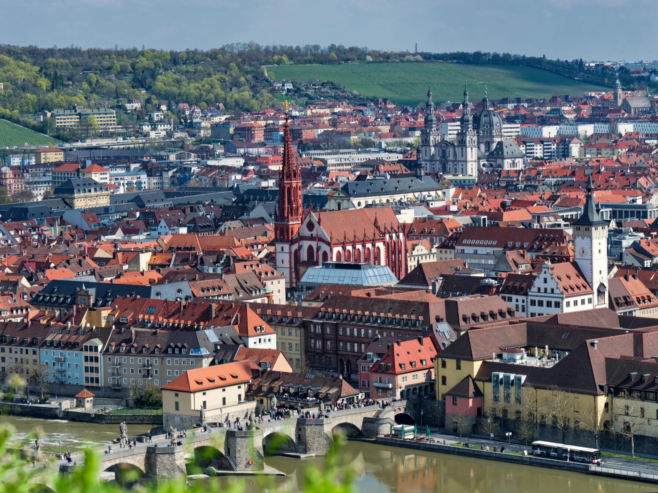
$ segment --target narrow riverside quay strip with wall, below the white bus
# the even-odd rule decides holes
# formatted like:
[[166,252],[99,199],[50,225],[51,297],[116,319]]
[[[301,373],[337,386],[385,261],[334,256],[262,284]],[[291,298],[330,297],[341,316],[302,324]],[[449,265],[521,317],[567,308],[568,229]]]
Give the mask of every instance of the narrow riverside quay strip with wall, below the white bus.
[[595,467],[592,464],[565,462],[555,459],[538,458],[534,456],[520,456],[516,454],[503,454],[502,452],[493,452],[492,450],[479,450],[476,448],[462,448],[452,445],[442,445],[440,443],[417,442],[415,440],[402,440],[401,438],[388,438],[378,436],[376,443],[394,447],[411,448],[414,450],[424,450],[425,452],[438,452],[440,454],[451,454],[455,456],[467,456],[478,459],[488,459],[502,462],[516,463],[520,465],[534,465],[539,467],[549,467],[551,469],[561,469],[563,471],[573,471],[591,475],[602,475],[616,477],[619,479],[633,479],[634,481],[651,482],[658,484],[658,475],[641,471],[640,469],[624,469],[620,467]]

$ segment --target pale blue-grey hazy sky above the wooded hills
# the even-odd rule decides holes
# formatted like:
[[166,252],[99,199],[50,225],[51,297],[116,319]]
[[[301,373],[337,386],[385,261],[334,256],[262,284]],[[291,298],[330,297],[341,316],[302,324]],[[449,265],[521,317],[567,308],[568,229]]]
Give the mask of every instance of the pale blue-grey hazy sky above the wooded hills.
[[184,50],[255,41],[384,51],[413,51],[418,43],[418,51],[435,53],[481,50],[630,62],[658,59],[654,5],[651,0],[0,0],[5,20],[0,43]]

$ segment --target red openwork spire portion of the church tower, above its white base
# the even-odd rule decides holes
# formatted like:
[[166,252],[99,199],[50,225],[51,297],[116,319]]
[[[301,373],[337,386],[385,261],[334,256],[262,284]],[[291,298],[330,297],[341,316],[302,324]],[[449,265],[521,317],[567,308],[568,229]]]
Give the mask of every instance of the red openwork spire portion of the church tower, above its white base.
[[303,216],[301,172],[293,160],[292,139],[288,124],[288,101],[284,101],[284,154],[279,172],[279,206],[274,218],[276,241],[290,242],[297,234]]

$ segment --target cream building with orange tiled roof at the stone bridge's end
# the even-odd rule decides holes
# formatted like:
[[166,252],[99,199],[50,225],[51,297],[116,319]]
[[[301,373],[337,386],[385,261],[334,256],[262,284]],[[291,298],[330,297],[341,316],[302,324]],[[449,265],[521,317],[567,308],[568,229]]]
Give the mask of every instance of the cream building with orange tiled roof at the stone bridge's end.
[[224,423],[254,411],[256,403],[247,402],[252,379],[250,361],[226,363],[184,372],[162,387],[163,426],[190,429],[200,422],[201,410],[209,423]]

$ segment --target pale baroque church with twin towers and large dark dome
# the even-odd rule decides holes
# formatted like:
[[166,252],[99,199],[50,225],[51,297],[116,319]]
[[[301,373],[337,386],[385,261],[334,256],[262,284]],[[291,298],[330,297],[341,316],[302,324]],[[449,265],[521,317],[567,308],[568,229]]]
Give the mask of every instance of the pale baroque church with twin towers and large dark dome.
[[484,107],[473,116],[464,89],[463,114],[455,141],[443,139],[436,126],[432,89],[427,91],[425,126],[420,131],[420,153],[426,169],[446,175],[477,176],[499,170],[521,170],[528,164],[525,153],[512,139],[503,140],[503,122],[489,108],[484,96]]

